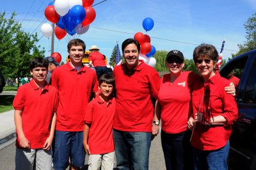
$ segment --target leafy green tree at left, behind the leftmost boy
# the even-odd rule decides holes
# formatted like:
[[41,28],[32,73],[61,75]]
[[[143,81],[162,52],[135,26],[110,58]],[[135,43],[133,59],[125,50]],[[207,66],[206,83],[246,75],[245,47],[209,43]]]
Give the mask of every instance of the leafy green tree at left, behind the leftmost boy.
[[[30,76],[29,62],[34,57],[44,57],[44,49],[39,50],[37,34],[21,30],[15,21],[15,13],[9,19],[0,13],[0,71],[6,78]],[[19,85],[19,83],[18,83]]]

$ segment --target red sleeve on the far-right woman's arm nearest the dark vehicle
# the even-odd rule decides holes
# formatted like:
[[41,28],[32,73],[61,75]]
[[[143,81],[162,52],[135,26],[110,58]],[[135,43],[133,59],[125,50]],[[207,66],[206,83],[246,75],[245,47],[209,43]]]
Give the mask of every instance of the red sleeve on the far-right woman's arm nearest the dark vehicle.
[[[227,85],[228,86],[228,85]],[[237,120],[238,109],[235,97],[231,94],[227,94],[225,90],[222,90],[222,102],[223,102],[223,114],[222,116],[227,120],[226,125],[232,125]]]

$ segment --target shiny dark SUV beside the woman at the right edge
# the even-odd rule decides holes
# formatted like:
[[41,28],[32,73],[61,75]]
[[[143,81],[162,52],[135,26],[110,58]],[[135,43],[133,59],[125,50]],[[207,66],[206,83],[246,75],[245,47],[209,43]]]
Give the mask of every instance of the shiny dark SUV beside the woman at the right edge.
[[230,137],[230,169],[256,169],[256,50],[234,57],[220,70],[228,78],[232,71],[240,79],[236,89],[238,119]]

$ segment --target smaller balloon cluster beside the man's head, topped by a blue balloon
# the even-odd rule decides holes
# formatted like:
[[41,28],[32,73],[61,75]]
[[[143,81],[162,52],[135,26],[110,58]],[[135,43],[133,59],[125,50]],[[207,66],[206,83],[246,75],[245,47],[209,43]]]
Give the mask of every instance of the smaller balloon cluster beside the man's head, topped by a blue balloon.
[[[142,22],[143,29],[150,31],[154,27],[154,20],[152,18],[145,18]],[[152,57],[156,53],[155,46],[150,44],[150,36],[143,34],[142,32],[136,32],[134,39],[140,43],[140,60],[144,60],[149,66],[156,66],[156,59]]]

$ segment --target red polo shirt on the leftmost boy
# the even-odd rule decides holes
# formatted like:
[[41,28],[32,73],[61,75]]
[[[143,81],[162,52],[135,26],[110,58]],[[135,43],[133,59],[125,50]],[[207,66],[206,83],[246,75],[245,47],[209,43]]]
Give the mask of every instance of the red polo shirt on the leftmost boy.
[[[44,148],[57,106],[58,91],[48,83],[44,89],[40,89],[34,80],[19,87],[13,100],[13,108],[22,110],[22,128],[31,149]],[[18,134],[16,146],[20,148]]]

